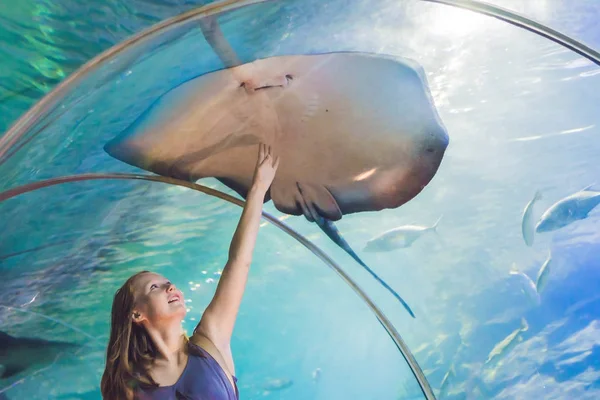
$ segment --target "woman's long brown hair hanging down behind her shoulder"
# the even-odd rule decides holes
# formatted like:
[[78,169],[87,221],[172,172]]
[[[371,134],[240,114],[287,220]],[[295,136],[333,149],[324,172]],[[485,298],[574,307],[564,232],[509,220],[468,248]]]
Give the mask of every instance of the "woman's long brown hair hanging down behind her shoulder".
[[133,322],[133,282],[131,276],[115,293],[111,311],[110,339],[106,349],[106,368],[100,389],[107,400],[133,400],[139,384],[158,386],[148,373],[157,350],[143,326]]

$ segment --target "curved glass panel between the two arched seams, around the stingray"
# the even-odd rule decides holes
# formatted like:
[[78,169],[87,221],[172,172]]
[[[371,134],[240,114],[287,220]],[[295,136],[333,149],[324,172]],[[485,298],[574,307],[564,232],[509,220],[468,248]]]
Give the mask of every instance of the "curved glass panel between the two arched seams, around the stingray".
[[[598,176],[598,67],[506,23],[421,1],[266,2],[218,20],[242,62],[353,51],[423,67],[450,137],[439,170],[401,207],[336,222],[415,319],[315,224],[274,213],[348,266],[398,327],[438,398],[598,397],[599,188],[582,190]],[[173,87],[222,68],[197,20],[117,54],[64,87],[64,97],[0,148],[0,189],[71,173],[139,172],[104,145]],[[377,140],[364,133],[365,154],[381,149]],[[585,201],[560,202],[571,195]],[[144,205],[154,208],[153,199]],[[13,214],[21,210],[15,201],[3,210],[24,212]],[[427,228],[440,217],[437,235],[407,236],[406,225]],[[364,250],[398,227],[404,236],[386,251]],[[2,241],[19,252],[25,235],[3,233]],[[366,376],[379,376],[375,370]]]

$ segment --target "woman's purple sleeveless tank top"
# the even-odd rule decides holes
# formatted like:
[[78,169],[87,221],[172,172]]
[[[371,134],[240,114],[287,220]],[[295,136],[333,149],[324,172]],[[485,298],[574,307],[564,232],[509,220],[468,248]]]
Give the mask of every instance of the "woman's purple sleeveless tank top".
[[[239,400],[217,361],[202,347],[189,343],[190,354],[183,373],[171,386],[139,387],[136,400]],[[233,381],[237,383],[234,376]]]

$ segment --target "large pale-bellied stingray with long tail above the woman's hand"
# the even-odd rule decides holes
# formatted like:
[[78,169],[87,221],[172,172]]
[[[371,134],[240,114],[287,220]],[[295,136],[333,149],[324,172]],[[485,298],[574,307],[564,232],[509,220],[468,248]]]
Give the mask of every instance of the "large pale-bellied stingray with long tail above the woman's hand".
[[360,52],[240,64],[214,24],[203,32],[225,68],[164,93],[105,151],[163,176],[216,178],[245,199],[258,145],[269,144],[281,162],[265,202],[317,223],[414,317],[333,222],[397,208],[436,174],[448,134],[422,68]]

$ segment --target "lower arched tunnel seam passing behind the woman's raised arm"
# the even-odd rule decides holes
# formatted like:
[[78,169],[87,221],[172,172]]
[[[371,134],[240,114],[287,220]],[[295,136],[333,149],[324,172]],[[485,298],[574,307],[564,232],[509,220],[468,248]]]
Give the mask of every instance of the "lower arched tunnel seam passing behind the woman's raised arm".
[[[243,200],[237,199],[227,193],[223,193],[220,190],[212,189],[204,185],[200,185],[194,182],[184,181],[175,178],[167,178],[158,175],[143,175],[143,174],[124,174],[124,173],[93,173],[93,174],[78,174],[78,175],[65,175],[57,178],[50,178],[41,181],[27,183],[16,188],[8,189],[3,192],[0,192],[0,203],[11,199],[13,197],[17,197],[19,195],[30,193],[39,189],[43,189],[50,186],[61,185],[64,183],[72,183],[72,182],[81,182],[81,181],[91,181],[91,180],[143,180],[150,182],[160,182],[165,183],[167,185],[180,186],[185,187],[191,190],[195,190],[197,192],[201,192],[207,194],[209,196],[213,196],[219,198],[221,200],[225,200],[231,204],[237,205],[239,207],[244,207],[245,202]],[[414,377],[417,379],[417,383],[423,395],[427,400],[436,400],[435,394],[431,386],[429,385],[429,381],[425,377],[423,370],[419,366],[419,363],[415,359],[414,355],[411,353],[408,345],[402,339],[400,333],[396,330],[391,321],[386,317],[379,307],[369,298],[369,296],[358,286],[356,282],[348,275],[346,272],[331,258],[329,257],[323,250],[321,250],[317,245],[312,243],[309,239],[302,236],[300,233],[296,232],[293,228],[285,224],[283,221],[279,221],[274,216],[269,213],[263,211],[262,216],[267,222],[276,226],[283,232],[287,233],[292,238],[296,239],[300,244],[302,244],[306,249],[310,250],[315,256],[317,256],[321,261],[327,264],[331,269],[333,269],[340,278],[354,292],[367,304],[367,306],[371,309],[375,317],[379,321],[379,323],[383,326],[387,334],[390,336],[400,354],[408,364],[411,372]]]

